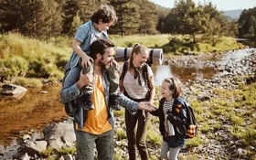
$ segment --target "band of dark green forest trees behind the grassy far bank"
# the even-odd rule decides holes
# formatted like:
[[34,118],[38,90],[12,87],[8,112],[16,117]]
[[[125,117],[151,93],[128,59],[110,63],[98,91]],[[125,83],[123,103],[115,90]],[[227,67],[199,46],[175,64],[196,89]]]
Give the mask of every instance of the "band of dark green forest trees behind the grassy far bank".
[[[176,0],[174,8],[148,0],[2,0],[0,33],[16,31],[24,36],[47,39],[72,37],[76,28],[91,18],[101,4],[115,8],[118,22],[110,34],[188,34],[215,43],[219,37],[255,37],[256,7],[243,10],[239,20],[230,20],[211,2]],[[196,38],[201,35],[200,38]]]

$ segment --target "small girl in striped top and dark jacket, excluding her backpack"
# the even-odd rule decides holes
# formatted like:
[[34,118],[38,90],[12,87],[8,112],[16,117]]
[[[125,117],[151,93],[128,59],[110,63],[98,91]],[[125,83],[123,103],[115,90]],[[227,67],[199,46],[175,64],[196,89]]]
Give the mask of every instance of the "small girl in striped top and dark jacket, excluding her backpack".
[[187,112],[185,100],[180,97],[181,85],[176,78],[165,79],[162,82],[163,98],[159,108],[150,112],[159,117],[159,130],[163,136],[160,157],[168,160],[176,160],[180,149],[185,145]]

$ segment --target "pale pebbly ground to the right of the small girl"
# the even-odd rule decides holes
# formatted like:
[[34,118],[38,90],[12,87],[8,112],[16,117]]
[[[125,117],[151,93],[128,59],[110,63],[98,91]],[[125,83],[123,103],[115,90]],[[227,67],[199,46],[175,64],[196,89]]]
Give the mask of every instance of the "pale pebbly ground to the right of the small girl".
[[[176,65],[189,65],[189,66],[202,66],[213,67],[219,71],[219,74],[215,75],[209,80],[198,78],[195,81],[188,81],[189,87],[185,88],[185,95],[187,97],[197,97],[197,101],[208,101],[214,99],[216,95],[213,93],[213,89],[227,89],[229,91],[238,90],[240,83],[251,84],[256,81],[256,49],[246,48],[237,50],[239,55],[234,55],[233,52],[224,53],[225,59],[220,61],[212,61],[208,59],[222,58],[223,54],[208,54],[195,56],[186,56],[179,59],[169,59],[169,63]],[[243,54],[243,56],[241,56]],[[237,77],[242,78],[242,81],[238,81]],[[244,79],[243,79],[244,78]],[[195,91],[196,87],[200,88],[197,94],[191,94]],[[230,100],[231,101],[231,100]],[[209,104],[210,105],[210,104]],[[256,114],[254,115],[254,119]],[[214,120],[208,120],[209,122]],[[218,123],[218,122],[215,122]],[[200,125],[200,124],[199,124]],[[205,139],[205,144],[200,144],[198,147],[194,147],[187,150],[183,150],[181,154],[183,157],[187,157],[189,154],[196,154],[197,159],[251,159],[246,155],[244,148],[240,146],[239,140],[234,140],[229,137],[227,130],[230,123],[224,123],[224,130],[219,130],[214,133],[215,137],[220,137],[223,141],[219,141],[216,138],[208,137],[208,134],[201,133],[201,138]],[[229,146],[228,146],[229,145]],[[251,146],[251,152],[256,151],[255,146]],[[235,158],[240,157],[240,158]],[[185,158],[187,159],[187,158]],[[256,156],[254,157],[256,159]]]

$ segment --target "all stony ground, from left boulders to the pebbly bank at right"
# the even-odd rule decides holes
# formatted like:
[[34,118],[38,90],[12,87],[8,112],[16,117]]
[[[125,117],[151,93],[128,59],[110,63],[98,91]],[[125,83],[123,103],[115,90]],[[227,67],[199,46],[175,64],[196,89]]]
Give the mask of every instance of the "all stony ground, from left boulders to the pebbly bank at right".
[[[211,79],[202,79],[198,77],[197,80],[187,81],[187,87],[185,88],[184,95],[189,98],[196,98],[197,101],[210,101],[214,99],[216,95],[213,93],[213,89],[222,88],[229,91],[237,90],[240,83],[251,83],[256,78],[253,77],[256,72],[256,48],[245,48],[238,50],[239,55],[244,54],[242,57],[236,56],[234,58],[233,52],[224,53],[225,59],[214,61],[213,59],[222,59],[223,54],[208,54],[198,56],[179,56],[172,59],[166,59],[165,63],[176,64],[179,66],[201,66],[213,67],[217,69],[219,73]],[[236,77],[251,77],[251,80],[244,79],[243,81],[237,81]],[[255,82],[254,81],[254,82]],[[193,94],[196,86],[200,88],[197,94]],[[209,104],[210,105],[210,104]],[[256,116],[256,114],[253,114]],[[209,122],[214,121],[208,119]],[[215,122],[218,123],[218,122]],[[223,128],[229,128],[229,123],[224,123]],[[200,126],[200,123],[198,123]],[[68,129],[67,129],[68,128]],[[150,126],[151,132],[158,132],[158,124],[153,122]],[[116,132],[125,131],[123,123],[123,117],[116,116]],[[43,135],[31,135],[29,133],[23,136],[23,144],[19,147],[18,152],[14,156],[16,159],[43,159],[40,158],[40,152],[44,151],[48,146],[59,149],[61,147],[69,147],[74,143],[75,139],[72,131],[71,123],[56,123],[50,124],[43,132]],[[207,133],[200,133],[199,139],[204,139],[204,143],[197,147],[183,148],[179,158],[180,159],[250,159],[244,148],[240,147],[240,142],[231,139],[227,131],[219,130],[214,133],[215,137],[221,137],[223,141],[219,141],[216,138],[208,137]],[[160,136],[160,133],[159,133]],[[160,138],[161,140],[161,138]],[[228,143],[227,143],[228,142]],[[161,144],[148,142],[149,155],[151,159],[158,159]],[[229,144],[229,147],[228,147]],[[115,137],[115,152],[116,159],[127,159],[127,141],[125,138]],[[255,146],[251,146],[251,152],[255,152]],[[1,153],[4,156],[5,153]],[[191,155],[193,155],[191,157]],[[236,155],[236,156],[235,156]],[[188,158],[189,157],[189,158]],[[231,158],[229,158],[231,157]],[[240,158],[232,158],[240,157]],[[74,159],[74,155],[54,155],[53,159]],[[255,157],[256,159],[256,157]]]

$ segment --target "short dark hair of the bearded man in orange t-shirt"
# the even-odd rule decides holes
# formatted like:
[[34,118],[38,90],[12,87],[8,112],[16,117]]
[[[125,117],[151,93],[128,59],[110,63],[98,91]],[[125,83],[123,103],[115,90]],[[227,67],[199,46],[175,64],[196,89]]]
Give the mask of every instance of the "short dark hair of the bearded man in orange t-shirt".
[[98,38],[94,42],[91,43],[91,58],[96,59],[97,53],[104,55],[106,48],[113,48],[114,44],[109,39]]

